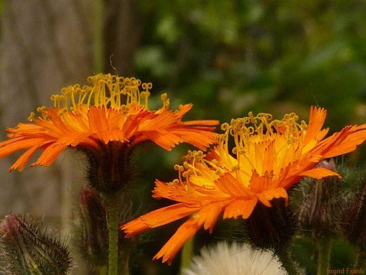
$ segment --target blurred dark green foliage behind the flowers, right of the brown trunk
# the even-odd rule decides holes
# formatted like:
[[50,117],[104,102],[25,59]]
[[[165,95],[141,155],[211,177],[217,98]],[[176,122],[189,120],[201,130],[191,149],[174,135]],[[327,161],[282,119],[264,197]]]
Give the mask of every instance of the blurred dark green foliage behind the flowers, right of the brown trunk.
[[[168,91],[172,107],[194,103],[187,115],[194,119],[225,122],[248,111],[275,117],[295,111],[307,120],[310,105],[319,105],[328,109],[330,132],[365,122],[365,1],[141,0],[139,5],[144,29],[135,75],[153,83],[156,104],[160,92]],[[167,153],[148,147],[137,156],[143,170],[135,184],[136,216],[168,203],[150,199],[153,179],[174,179],[172,166],[188,148]],[[364,151],[354,153],[351,162],[365,163]],[[146,234],[144,263],[135,265],[134,274],[178,272],[179,257],[172,267],[149,262],[176,228]],[[196,251],[218,241],[219,230],[212,236],[200,232]],[[299,239],[294,253],[308,274],[315,274],[314,245]],[[347,243],[336,243],[332,267],[352,265],[353,253]]]

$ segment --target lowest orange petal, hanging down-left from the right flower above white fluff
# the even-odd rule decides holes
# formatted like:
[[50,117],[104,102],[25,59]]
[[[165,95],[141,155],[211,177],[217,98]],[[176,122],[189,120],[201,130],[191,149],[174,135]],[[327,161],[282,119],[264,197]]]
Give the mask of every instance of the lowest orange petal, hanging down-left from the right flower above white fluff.
[[169,241],[165,243],[163,248],[154,256],[154,260],[162,258],[163,263],[168,261],[168,264],[170,265],[184,243],[191,239],[199,228],[200,226],[196,219],[191,218],[187,220],[178,230],[176,230]]

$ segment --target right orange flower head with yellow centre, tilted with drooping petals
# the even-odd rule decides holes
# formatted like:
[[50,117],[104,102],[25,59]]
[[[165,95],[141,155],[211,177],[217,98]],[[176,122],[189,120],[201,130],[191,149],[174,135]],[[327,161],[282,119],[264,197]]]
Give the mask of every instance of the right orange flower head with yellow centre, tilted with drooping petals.
[[[260,113],[222,124],[225,133],[212,151],[189,152],[183,166],[176,165],[179,179],[156,181],[153,197],[177,203],[130,221],[122,226],[126,237],[190,216],[165,243],[154,259],[172,262],[182,245],[199,228],[211,232],[222,214],[224,219],[247,219],[258,203],[271,207],[271,200],[288,201],[288,189],[304,176],[320,179],[339,174],[316,167],[325,158],[354,151],[366,140],[366,124],[346,126],[324,138],[326,111],[312,107],[307,125],[290,113],[282,120]],[[229,153],[229,136],[235,147]],[[183,179],[183,177],[185,179]]]

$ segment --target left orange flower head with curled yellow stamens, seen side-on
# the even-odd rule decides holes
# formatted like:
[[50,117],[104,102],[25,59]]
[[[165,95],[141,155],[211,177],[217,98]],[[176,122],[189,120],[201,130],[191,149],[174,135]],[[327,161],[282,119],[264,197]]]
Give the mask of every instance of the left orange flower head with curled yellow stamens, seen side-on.
[[168,151],[180,142],[205,150],[215,140],[216,134],[211,131],[218,121],[181,121],[192,104],[171,111],[169,99],[163,94],[163,107],[149,111],[151,83],[141,85],[135,78],[111,74],[98,74],[88,80],[92,85],[73,85],[62,89],[62,95],[52,96],[54,107],[38,108],[38,118],[31,113],[29,120],[33,123],[19,123],[7,130],[10,139],[0,142],[0,158],[27,149],[10,170],[23,170],[38,149],[44,151],[32,166],[49,166],[67,147],[98,151],[103,144],[134,146],[151,140]]

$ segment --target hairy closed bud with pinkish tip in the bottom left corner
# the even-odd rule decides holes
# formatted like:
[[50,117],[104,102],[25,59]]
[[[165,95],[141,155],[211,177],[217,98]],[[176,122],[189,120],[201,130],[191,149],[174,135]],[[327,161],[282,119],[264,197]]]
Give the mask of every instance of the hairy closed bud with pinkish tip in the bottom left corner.
[[68,274],[68,248],[30,217],[9,214],[0,223],[0,234],[9,274]]

